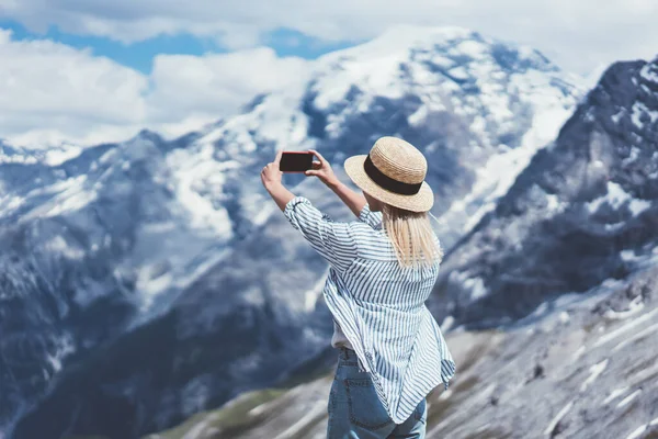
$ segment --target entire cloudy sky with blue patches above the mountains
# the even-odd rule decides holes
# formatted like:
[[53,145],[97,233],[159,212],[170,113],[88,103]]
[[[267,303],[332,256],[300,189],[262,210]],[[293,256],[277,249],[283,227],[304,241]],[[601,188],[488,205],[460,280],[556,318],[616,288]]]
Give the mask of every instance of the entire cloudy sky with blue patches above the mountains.
[[0,139],[171,135],[299,81],[392,26],[462,26],[597,78],[658,53],[656,0],[0,0]]

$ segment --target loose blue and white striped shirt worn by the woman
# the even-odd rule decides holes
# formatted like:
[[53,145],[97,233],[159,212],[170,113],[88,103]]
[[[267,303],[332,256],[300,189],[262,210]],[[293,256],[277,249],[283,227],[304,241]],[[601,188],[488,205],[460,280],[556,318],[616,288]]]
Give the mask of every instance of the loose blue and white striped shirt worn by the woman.
[[327,306],[389,416],[402,424],[436,385],[447,390],[455,373],[441,328],[424,304],[440,263],[401,268],[382,213],[368,204],[359,221],[349,223],[332,221],[305,196],[295,196],[283,213],[329,262],[322,290]]

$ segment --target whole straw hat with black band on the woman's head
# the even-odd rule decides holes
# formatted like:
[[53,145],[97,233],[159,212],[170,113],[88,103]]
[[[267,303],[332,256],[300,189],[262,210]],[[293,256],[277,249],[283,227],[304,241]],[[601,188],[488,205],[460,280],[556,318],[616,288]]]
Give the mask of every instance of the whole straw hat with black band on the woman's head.
[[367,155],[349,157],[343,167],[354,184],[385,203],[412,212],[428,212],[434,204],[424,181],[428,161],[401,138],[381,137]]

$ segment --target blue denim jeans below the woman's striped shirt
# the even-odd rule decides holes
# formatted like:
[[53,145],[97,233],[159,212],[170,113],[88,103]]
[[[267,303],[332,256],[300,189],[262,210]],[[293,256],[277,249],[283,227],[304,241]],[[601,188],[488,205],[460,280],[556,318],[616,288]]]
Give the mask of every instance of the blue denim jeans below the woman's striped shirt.
[[423,398],[409,418],[395,424],[379,402],[370,374],[356,352],[340,347],[328,403],[327,439],[424,439],[428,419]]

